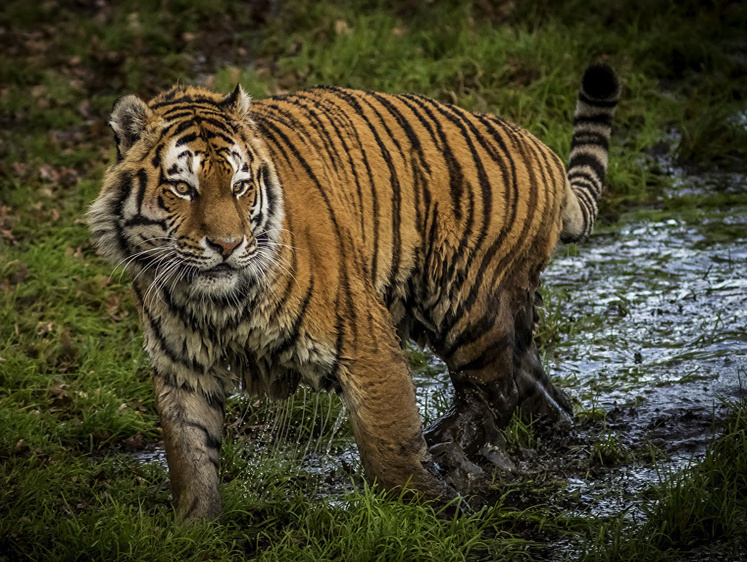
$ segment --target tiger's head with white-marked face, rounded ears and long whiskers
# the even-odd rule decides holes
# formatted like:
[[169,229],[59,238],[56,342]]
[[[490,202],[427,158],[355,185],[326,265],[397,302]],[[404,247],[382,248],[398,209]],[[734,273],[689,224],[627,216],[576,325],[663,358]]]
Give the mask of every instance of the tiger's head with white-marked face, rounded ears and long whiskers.
[[120,98],[117,161],[89,224],[98,250],[152,287],[226,298],[261,282],[280,237],[275,168],[237,86],[228,96],[177,86]]

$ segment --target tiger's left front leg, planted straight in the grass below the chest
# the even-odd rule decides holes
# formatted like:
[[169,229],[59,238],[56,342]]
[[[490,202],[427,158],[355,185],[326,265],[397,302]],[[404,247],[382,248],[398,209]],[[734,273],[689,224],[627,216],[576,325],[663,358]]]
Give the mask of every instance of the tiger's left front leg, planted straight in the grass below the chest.
[[175,386],[158,373],[154,373],[154,386],[177,518],[216,518],[221,512],[222,390],[207,394],[187,384]]

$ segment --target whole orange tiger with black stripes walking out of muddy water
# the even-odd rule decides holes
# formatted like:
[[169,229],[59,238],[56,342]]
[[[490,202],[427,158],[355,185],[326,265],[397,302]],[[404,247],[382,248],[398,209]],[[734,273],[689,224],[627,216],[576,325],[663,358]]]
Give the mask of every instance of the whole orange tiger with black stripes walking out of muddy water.
[[[131,277],[176,517],[221,513],[235,388],[338,393],[366,478],[425,500],[458,492],[435,451],[490,460],[516,411],[569,419],[533,339],[536,293],[556,246],[594,226],[619,94],[610,66],[586,70],[567,170],[519,126],[417,94],[117,100],[88,223]],[[410,340],[454,387],[427,431]]]

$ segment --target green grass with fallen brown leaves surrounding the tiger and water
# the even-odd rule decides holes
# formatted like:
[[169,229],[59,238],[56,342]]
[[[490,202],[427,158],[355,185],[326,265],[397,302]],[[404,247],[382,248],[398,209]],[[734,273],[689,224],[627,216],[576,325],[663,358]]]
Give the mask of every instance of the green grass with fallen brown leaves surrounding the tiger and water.
[[[277,408],[235,397],[221,464],[225,514],[176,526],[162,463],[132,456],[156,447],[160,429],[127,279],[94,254],[82,218],[113,158],[108,111],[125,93],[147,98],[177,80],[224,91],[241,82],[255,97],[317,83],[415,91],[500,114],[567,156],[583,67],[603,59],[618,69],[624,98],[600,229],[624,213],[727,219],[744,206],[743,193],[667,190],[676,182],[671,166],[739,171],[747,161],[746,22],[739,3],[663,0],[6,2],[0,558],[531,559],[569,543],[592,559],[676,559],[713,543],[738,552],[743,405],[702,461],[641,500],[647,522],[630,526],[579,516],[563,475],[542,463],[528,476],[497,477],[486,507],[473,513],[385,497],[363,485],[346,423],[333,431],[343,419],[337,398],[299,393]],[[709,236],[738,236],[737,226],[718,222]],[[543,291],[538,340],[548,356],[604,323],[564,317],[567,297]],[[427,355],[409,354],[419,380],[442,376]],[[423,394],[424,410],[447,406],[448,390]],[[579,411],[583,423],[604,417],[593,406]],[[278,434],[310,443],[319,458],[330,447],[342,460],[309,470],[306,447],[289,452],[273,441]],[[551,445],[518,418],[508,438],[521,455]],[[602,432],[584,443],[574,470],[627,462],[615,439]],[[260,445],[274,453],[257,455]]]

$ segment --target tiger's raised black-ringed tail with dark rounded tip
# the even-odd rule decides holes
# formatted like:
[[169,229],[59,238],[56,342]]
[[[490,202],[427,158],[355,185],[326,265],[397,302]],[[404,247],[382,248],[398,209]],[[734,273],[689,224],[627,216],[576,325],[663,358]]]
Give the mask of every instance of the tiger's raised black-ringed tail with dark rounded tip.
[[612,116],[620,98],[615,71],[606,64],[586,69],[573,116],[568,192],[563,211],[563,242],[576,242],[594,228],[607,174]]

